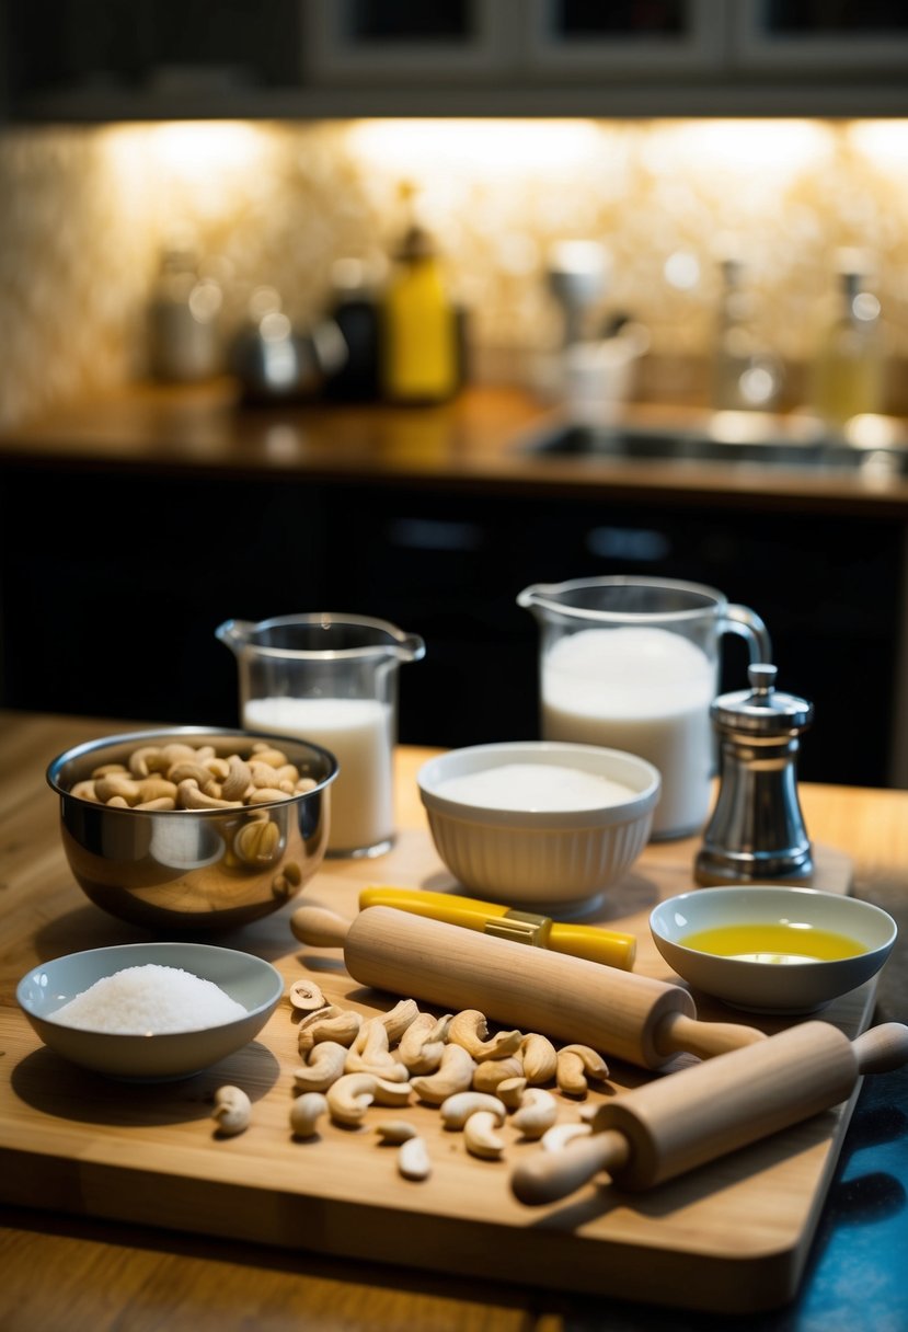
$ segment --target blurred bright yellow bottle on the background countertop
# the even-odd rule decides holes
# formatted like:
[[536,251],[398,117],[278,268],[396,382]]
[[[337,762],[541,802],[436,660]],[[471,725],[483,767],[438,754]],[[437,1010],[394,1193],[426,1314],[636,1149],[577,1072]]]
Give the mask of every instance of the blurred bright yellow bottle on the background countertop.
[[417,226],[405,237],[382,301],[382,393],[391,402],[445,402],[458,388],[458,333],[441,264]]

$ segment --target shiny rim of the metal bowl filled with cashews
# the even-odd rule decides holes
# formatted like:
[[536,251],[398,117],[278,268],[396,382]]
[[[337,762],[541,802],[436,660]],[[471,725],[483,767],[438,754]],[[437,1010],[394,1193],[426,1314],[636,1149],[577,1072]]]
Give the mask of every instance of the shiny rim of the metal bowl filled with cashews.
[[182,815],[182,814],[194,814],[194,815],[201,815],[202,818],[209,818],[209,819],[222,817],[224,814],[236,815],[237,814],[236,809],[226,809],[226,810],[225,809],[210,809],[210,810],[206,810],[206,809],[201,809],[201,810],[134,810],[134,809],[122,807],[122,806],[99,805],[97,801],[87,801],[81,795],[73,795],[73,793],[71,790],[68,790],[65,786],[63,786],[61,782],[60,782],[60,773],[63,771],[63,769],[68,763],[72,763],[76,759],[85,758],[87,755],[89,755],[92,753],[96,753],[96,751],[101,753],[103,750],[105,750],[107,747],[113,746],[113,745],[117,745],[117,746],[118,745],[132,745],[132,743],[134,743],[134,745],[150,745],[154,741],[164,741],[165,738],[168,741],[186,741],[188,742],[193,737],[198,738],[198,737],[202,737],[202,735],[208,735],[208,737],[212,737],[212,738],[216,738],[216,739],[224,739],[224,741],[229,739],[230,737],[237,737],[241,741],[250,741],[250,742],[253,742],[253,741],[269,741],[269,742],[272,742],[276,746],[281,746],[281,745],[300,746],[300,745],[302,745],[306,749],[312,750],[314,754],[317,754],[321,759],[324,759],[326,762],[326,765],[328,765],[328,775],[324,777],[320,782],[317,782],[316,786],[310,787],[308,791],[300,791],[296,795],[289,795],[284,801],[270,801],[270,802],[262,801],[261,805],[256,806],[257,810],[269,810],[269,809],[273,809],[274,806],[293,805],[293,803],[297,803],[298,801],[305,799],[308,795],[314,795],[318,791],[325,791],[332,785],[332,782],[337,778],[337,775],[338,775],[338,773],[341,770],[341,765],[340,765],[340,762],[337,759],[337,755],[334,755],[330,750],[325,749],[324,745],[317,745],[314,741],[308,741],[308,739],[305,739],[301,735],[278,735],[278,734],[274,734],[272,731],[250,731],[250,730],[245,730],[241,726],[233,727],[233,726],[182,726],[181,725],[181,726],[156,726],[156,727],[153,727],[150,730],[138,730],[138,731],[114,731],[111,735],[100,735],[100,737],[96,737],[95,739],[91,739],[91,741],[80,741],[79,745],[69,746],[69,749],[63,750],[60,754],[55,755],[55,758],[51,759],[51,762],[47,766],[45,774],[44,774],[45,775],[45,781],[47,781],[48,786],[51,787],[51,790],[55,791],[61,799],[71,801],[73,805],[77,805],[77,806],[79,805],[87,806],[88,809],[92,809],[92,810],[104,810],[105,813],[113,814],[113,815],[134,815],[134,814],[138,813],[138,814],[145,815],[148,818],[166,818],[166,817],[169,817],[172,814],[180,814],[180,815]]

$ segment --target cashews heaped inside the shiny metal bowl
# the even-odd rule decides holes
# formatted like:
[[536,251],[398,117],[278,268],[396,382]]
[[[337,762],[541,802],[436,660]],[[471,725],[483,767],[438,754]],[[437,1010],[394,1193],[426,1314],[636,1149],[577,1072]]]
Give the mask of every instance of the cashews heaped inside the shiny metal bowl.
[[125,763],[99,765],[71,795],[130,810],[230,810],[289,801],[317,785],[266,741],[256,741],[246,758],[174,741],[142,745]]

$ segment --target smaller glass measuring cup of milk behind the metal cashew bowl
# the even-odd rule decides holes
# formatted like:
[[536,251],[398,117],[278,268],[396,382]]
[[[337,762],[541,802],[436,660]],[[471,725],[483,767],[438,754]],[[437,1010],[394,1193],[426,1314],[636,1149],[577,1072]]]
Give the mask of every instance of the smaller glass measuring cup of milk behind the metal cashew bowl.
[[394,842],[393,754],[402,662],[426,647],[383,619],[313,613],[214,630],[237,658],[241,725],[330,750],[328,855],[379,855]]

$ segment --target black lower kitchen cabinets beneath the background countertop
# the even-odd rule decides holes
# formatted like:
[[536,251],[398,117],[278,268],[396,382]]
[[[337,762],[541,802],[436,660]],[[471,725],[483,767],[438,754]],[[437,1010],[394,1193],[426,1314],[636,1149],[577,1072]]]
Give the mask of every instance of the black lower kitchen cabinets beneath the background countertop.
[[[7,462],[1,701],[236,725],[236,663],[216,626],[330,610],[425,638],[425,661],[401,671],[403,741],[529,739],[538,734],[538,630],[517,594],[538,581],[644,573],[752,606],[772,635],[779,687],[815,705],[800,774],[883,786],[903,547],[895,514],[767,515],[706,497],[501,493],[443,477],[174,477]],[[722,687],[744,687],[746,666],[743,642],[728,638]]]

